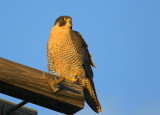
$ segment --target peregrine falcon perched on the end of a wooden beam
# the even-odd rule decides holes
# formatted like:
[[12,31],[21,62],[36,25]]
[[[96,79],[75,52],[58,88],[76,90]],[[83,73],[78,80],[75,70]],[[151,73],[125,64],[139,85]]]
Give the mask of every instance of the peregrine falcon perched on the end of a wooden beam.
[[100,112],[91,68],[95,64],[81,34],[72,30],[71,17],[60,16],[55,21],[47,44],[47,56],[48,70],[64,79],[81,83],[85,101],[95,112]]

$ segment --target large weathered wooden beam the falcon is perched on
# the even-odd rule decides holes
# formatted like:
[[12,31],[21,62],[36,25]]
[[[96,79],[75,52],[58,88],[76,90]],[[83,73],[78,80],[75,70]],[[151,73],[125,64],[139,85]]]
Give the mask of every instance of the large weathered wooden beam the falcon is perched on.
[[62,89],[53,93],[47,81],[52,74],[0,57],[0,93],[61,112],[74,114],[84,107],[80,84],[65,80]]

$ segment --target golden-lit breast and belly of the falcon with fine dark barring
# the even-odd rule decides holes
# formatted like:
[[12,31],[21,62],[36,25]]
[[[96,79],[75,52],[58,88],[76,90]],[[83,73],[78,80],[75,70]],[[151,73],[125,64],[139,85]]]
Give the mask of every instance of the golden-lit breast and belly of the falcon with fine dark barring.
[[[83,60],[80,51],[82,44],[80,39],[75,39],[76,34],[70,30],[54,26],[48,41],[49,70],[56,71],[59,76],[72,77],[75,73],[78,77],[84,77],[82,67]],[[74,38],[74,39],[73,39]]]

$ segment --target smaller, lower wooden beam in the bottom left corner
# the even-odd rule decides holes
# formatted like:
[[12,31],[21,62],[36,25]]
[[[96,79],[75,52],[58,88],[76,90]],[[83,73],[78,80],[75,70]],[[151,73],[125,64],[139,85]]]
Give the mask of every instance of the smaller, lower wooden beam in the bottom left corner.
[[[13,108],[17,104],[0,99],[0,115],[5,115],[6,111]],[[21,107],[15,110],[12,115],[37,115],[37,111],[28,107]]]

